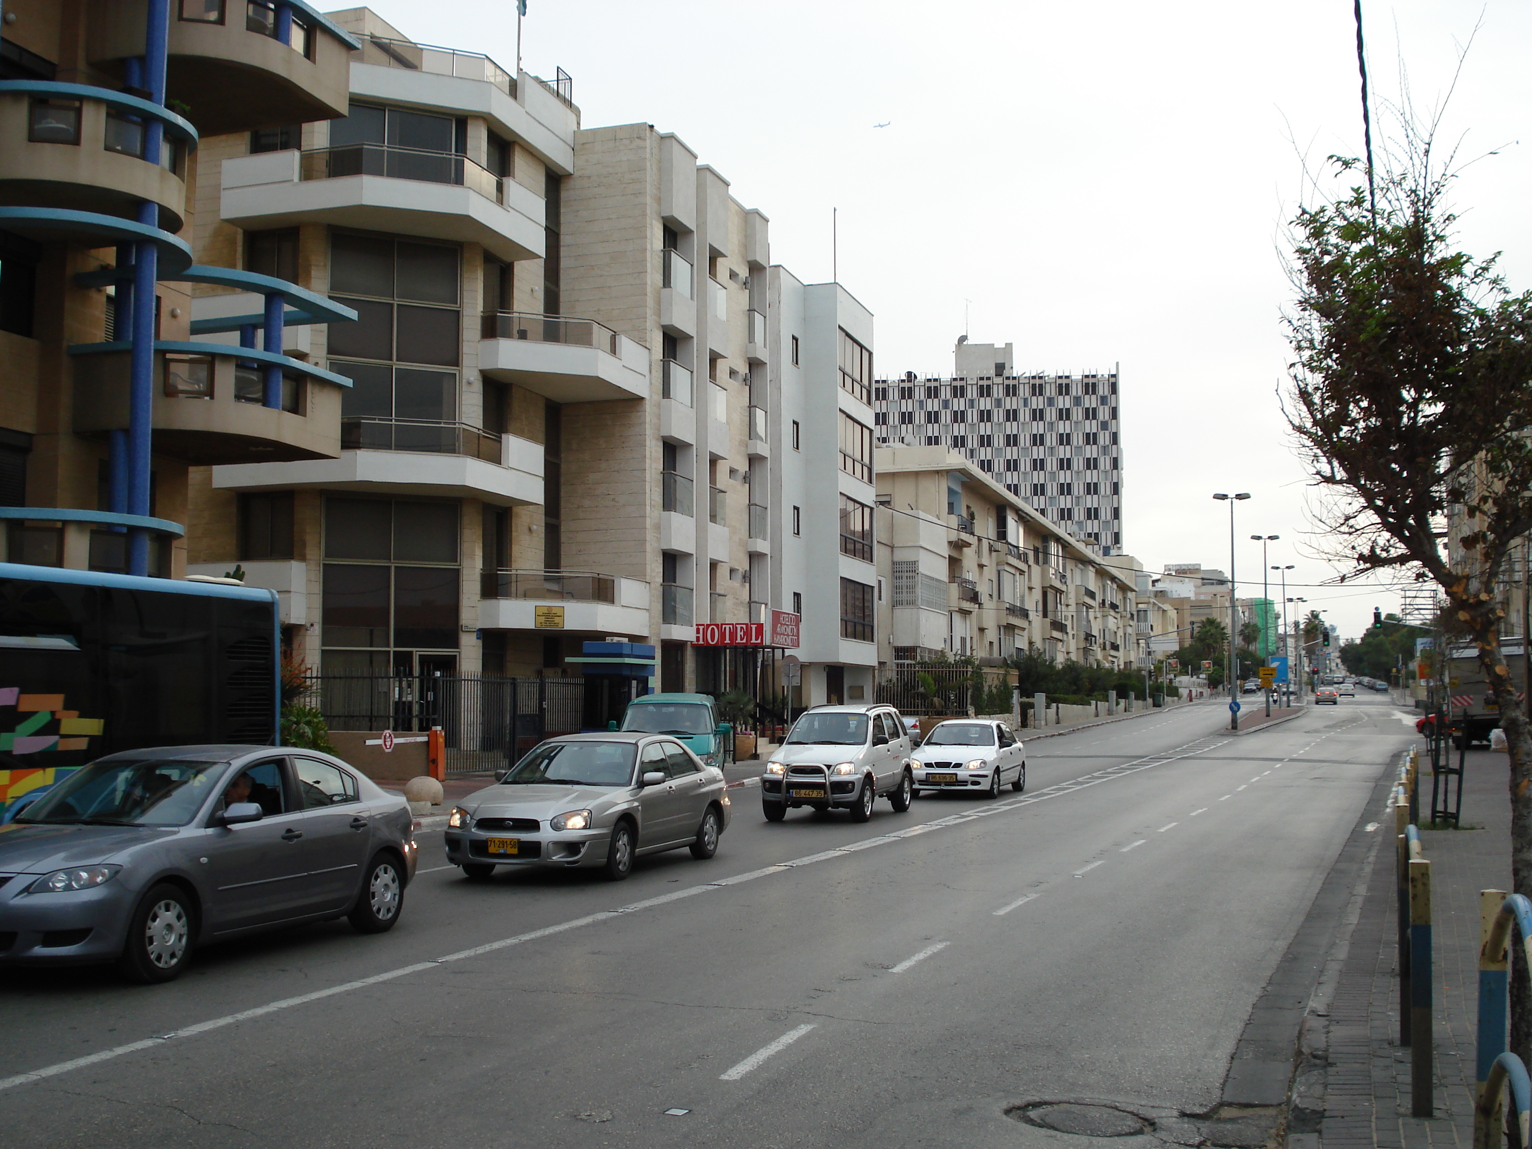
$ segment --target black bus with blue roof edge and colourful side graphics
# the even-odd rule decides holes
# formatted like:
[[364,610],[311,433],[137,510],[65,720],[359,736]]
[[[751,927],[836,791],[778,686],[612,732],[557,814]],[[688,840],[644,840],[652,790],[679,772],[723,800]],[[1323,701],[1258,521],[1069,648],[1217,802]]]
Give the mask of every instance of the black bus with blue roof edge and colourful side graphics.
[[106,754],[276,746],[271,590],[0,562],[0,821]]

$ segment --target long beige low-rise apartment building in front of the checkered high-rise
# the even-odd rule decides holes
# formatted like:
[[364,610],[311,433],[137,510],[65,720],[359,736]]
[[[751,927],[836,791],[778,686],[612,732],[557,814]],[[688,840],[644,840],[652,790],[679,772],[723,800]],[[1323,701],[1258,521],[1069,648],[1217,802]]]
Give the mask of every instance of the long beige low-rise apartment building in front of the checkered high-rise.
[[944,446],[879,447],[879,660],[1135,666],[1135,587],[1059,524]]

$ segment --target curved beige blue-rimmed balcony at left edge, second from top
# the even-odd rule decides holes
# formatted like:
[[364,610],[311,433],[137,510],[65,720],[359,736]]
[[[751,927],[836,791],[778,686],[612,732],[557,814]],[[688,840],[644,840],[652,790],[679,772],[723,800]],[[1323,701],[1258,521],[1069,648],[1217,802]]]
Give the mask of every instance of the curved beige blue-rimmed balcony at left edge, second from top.
[[[144,123],[158,119],[158,156],[144,155]],[[179,231],[185,164],[196,129],[147,100],[89,84],[0,80],[0,202],[133,218],[159,205]]]

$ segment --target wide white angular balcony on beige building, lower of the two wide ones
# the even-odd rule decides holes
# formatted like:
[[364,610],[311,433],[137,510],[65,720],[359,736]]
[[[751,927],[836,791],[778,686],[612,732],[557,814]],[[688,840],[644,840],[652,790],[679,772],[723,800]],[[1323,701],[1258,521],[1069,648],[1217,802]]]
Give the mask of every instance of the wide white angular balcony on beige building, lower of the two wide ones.
[[[332,489],[541,506],[542,444],[464,423],[348,418],[340,458],[213,467],[221,490]],[[499,446],[496,455],[495,446]]]

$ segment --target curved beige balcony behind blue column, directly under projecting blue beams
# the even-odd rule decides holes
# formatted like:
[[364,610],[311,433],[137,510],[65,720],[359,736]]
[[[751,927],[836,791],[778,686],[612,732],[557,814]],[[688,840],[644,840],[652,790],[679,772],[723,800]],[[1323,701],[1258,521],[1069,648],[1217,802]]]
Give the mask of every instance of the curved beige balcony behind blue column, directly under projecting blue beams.
[[[129,343],[77,343],[74,430],[127,426]],[[264,366],[282,368],[283,401],[264,406]],[[256,348],[155,342],[155,452],[192,464],[340,455],[345,375]]]

